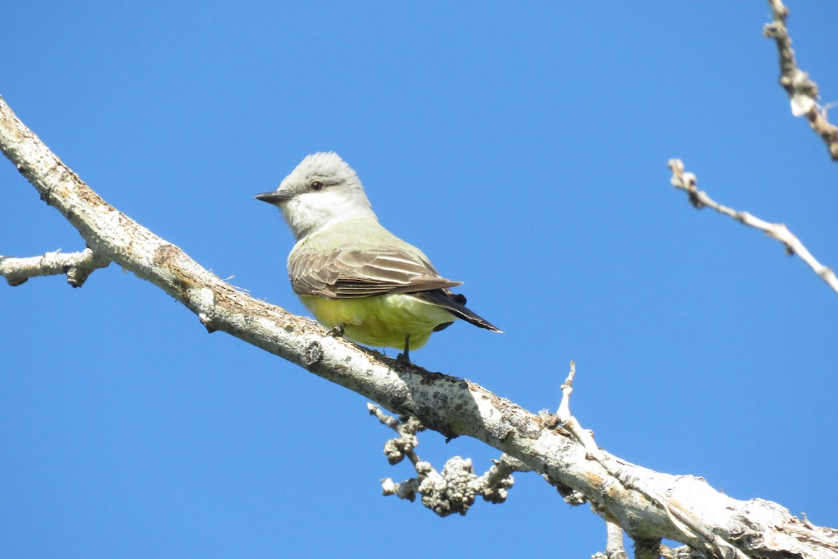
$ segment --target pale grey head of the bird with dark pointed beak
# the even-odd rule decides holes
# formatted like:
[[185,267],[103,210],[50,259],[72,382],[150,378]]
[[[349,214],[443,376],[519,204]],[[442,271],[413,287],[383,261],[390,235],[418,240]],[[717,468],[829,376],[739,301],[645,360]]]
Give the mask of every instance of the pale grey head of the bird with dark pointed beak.
[[358,175],[334,152],[308,155],[278,189],[256,199],[279,207],[297,239],[343,220],[375,220]]

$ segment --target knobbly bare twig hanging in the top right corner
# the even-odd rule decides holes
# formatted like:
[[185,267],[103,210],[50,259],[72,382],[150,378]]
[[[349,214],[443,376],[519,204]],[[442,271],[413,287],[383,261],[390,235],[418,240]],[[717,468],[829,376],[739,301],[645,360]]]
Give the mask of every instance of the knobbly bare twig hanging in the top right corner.
[[794,116],[806,116],[810,127],[826,144],[833,161],[838,161],[838,127],[826,120],[826,110],[818,105],[818,85],[810,80],[809,74],[800,70],[794,60],[789,29],[786,18],[789,8],[782,0],[768,0],[773,13],[773,21],[766,23],[763,34],[774,39],[780,59],[780,85],[791,99],[791,111]]

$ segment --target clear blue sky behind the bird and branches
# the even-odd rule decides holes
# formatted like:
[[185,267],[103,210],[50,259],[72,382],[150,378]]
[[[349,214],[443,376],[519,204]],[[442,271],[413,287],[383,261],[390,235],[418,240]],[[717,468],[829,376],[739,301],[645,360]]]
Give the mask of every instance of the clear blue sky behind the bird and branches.
[[[292,237],[253,194],[334,150],[382,223],[505,330],[413,358],[608,451],[838,526],[838,296],[756,230],[838,266],[838,184],[777,85],[763,1],[32,3],[3,7],[0,94],[109,203],[297,313]],[[834,2],[789,0],[800,65],[838,100]],[[0,254],[84,248],[0,163]],[[365,400],[111,265],[0,285],[0,556],[587,556],[601,520],[518,474],[464,518],[380,496],[411,477]],[[442,467],[497,452],[421,437]]]

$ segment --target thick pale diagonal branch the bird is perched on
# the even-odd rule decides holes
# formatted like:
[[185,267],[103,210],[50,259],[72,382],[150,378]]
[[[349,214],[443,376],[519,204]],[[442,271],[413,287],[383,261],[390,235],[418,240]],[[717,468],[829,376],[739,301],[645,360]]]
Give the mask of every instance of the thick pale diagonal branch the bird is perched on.
[[[307,318],[236,290],[107,204],[18,120],[2,98],[0,148],[44,200],[79,230],[91,251],[163,289],[195,313],[209,332],[221,330],[279,355],[388,411],[414,416],[446,437],[477,438],[552,484],[584,495],[635,541],[666,538],[701,546],[701,536],[686,534],[672,515],[646,496],[665,494],[748,556],[838,557],[838,532],[808,525],[780,505],[732,499],[703,479],[656,473],[609,455],[609,462],[619,463],[624,474],[617,479],[564,429],[482,386],[399,365],[327,336]],[[645,493],[629,487],[626,479],[633,479]]]

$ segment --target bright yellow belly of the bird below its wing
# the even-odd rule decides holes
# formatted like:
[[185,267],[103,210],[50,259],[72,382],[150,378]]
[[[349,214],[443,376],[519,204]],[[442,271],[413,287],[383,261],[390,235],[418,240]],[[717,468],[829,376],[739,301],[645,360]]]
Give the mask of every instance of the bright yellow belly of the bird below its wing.
[[328,299],[301,295],[300,300],[326,328],[343,324],[344,337],[372,347],[411,349],[427,343],[434,328],[457,318],[447,310],[406,293],[355,299]]

